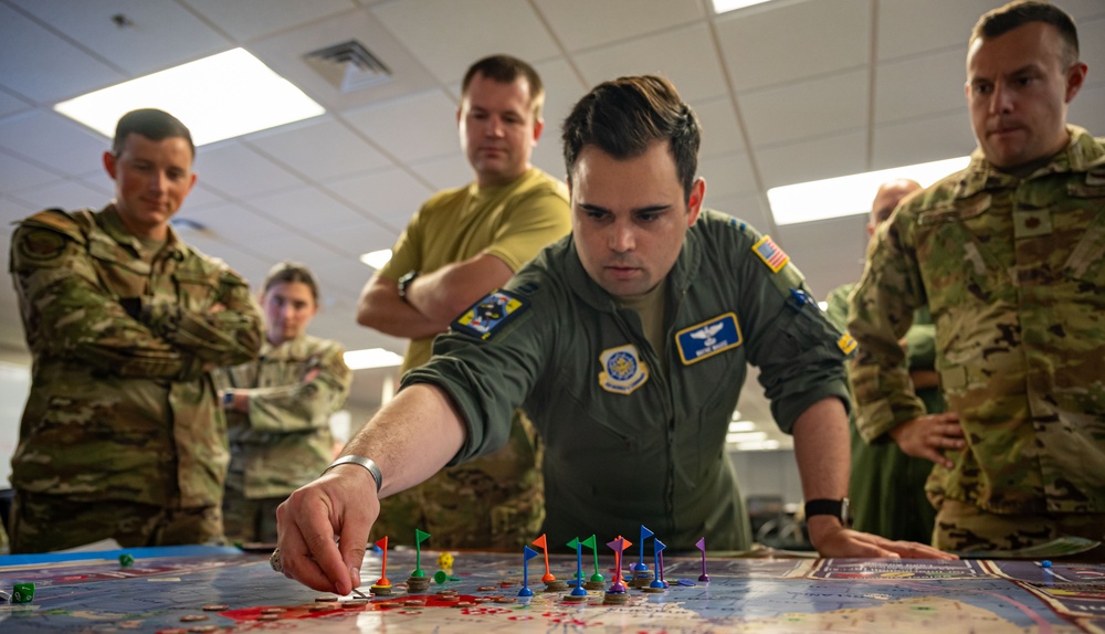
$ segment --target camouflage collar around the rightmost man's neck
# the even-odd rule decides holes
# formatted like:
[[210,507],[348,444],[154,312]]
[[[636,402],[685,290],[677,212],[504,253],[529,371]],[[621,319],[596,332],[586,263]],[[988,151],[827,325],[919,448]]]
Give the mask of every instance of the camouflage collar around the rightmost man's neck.
[[1091,168],[1105,165],[1105,149],[1084,128],[1066,126],[1071,141],[1051,161],[1036,169],[1024,179],[1006,173],[986,160],[980,148],[970,155],[970,165],[960,172],[955,186],[955,198],[965,199],[985,190],[1015,187],[1021,180],[1036,178],[1048,173],[1084,172]]

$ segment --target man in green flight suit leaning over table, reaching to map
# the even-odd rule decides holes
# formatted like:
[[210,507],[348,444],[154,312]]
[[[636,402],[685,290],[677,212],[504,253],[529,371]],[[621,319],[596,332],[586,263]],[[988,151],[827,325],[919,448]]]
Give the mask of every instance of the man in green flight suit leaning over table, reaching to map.
[[519,404],[547,443],[548,543],[643,522],[673,549],[703,536],[746,548],[725,434],[748,361],[794,435],[818,550],[943,556],[842,524],[853,342],[769,237],[702,209],[699,137],[660,77],[607,82],[576,105],[562,135],[571,235],[480,302],[501,317],[457,318],[345,455],[280,506],[274,568],[349,592],[379,497],[501,445]]

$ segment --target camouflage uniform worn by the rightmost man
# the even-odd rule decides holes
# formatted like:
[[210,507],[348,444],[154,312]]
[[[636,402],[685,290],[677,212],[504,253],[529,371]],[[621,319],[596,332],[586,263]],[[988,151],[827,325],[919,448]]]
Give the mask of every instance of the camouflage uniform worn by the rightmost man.
[[[925,410],[897,339],[914,309],[936,324],[936,368],[967,446],[927,490],[996,515],[1096,517],[1105,533],[1105,144],[1071,142],[1032,173],[968,168],[911,198],[872,241],[849,329],[867,440]],[[936,546],[1010,549],[1044,531],[945,530]],[[959,514],[961,515],[961,514]]]

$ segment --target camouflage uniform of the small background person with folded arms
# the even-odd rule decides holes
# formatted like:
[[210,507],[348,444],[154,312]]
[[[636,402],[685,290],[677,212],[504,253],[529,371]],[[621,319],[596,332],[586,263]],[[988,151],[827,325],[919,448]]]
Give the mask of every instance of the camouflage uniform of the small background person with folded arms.
[[223,498],[227,538],[276,541],[276,507],[334,459],[330,414],[349,395],[345,349],[303,335],[265,341],[256,361],[215,370],[220,390],[246,390],[249,412],[227,410],[230,472]]

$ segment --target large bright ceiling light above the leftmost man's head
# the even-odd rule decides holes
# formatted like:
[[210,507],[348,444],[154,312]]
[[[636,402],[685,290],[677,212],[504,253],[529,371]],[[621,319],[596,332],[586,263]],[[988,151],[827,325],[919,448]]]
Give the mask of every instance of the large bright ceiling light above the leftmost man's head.
[[244,49],[138,77],[54,106],[59,113],[115,135],[119,117],[159,108],[180,119],[197,146],[317,117],[326,112]]

